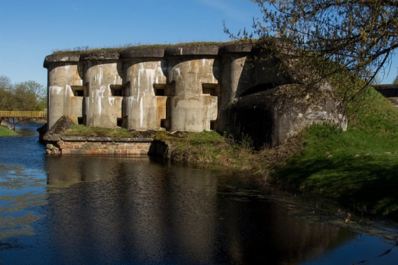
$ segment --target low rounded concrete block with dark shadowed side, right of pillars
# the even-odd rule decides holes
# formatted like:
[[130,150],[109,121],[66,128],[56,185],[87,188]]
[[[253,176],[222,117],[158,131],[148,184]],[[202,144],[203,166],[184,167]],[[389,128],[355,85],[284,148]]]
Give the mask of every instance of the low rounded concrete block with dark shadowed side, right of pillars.
[[276,146],[310,124],[337,124],[346,129],[331,91],[317,95],[299,85],[283,85],[240,97],[229,104],[235,137],[248,135],[258,148]]

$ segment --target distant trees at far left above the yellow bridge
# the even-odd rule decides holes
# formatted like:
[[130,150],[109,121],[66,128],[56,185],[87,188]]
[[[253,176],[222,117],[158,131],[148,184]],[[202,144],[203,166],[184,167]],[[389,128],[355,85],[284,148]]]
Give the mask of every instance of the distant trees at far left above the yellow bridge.
[[47,108],[46,88],[36,81],[12,84],[0,75],[0,110],[42,111]]

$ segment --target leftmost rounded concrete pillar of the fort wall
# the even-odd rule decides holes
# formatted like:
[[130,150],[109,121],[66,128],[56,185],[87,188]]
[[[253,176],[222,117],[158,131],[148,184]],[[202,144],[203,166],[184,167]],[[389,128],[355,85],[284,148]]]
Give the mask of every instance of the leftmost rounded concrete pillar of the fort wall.
[[78,117],[82,117],[83,101],[83,97],[73,94],[73,87],[82,86],[79,55],[49,55],[44,59],[44,68],[48,69],[48,129],[63,115],[77,124]]

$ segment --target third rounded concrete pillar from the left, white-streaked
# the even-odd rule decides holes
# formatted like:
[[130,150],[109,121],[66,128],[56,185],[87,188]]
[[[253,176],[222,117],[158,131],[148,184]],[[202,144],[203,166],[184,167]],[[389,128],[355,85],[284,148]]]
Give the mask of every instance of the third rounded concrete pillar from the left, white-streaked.
[[160,130],[166,119],[167,71],[164,49],[121,52],[126,95],[122,115],[129,130]]

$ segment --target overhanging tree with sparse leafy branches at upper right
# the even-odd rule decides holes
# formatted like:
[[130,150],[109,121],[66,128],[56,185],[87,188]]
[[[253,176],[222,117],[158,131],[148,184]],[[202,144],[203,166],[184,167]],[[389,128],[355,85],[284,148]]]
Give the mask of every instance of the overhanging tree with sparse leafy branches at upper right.
[[[234,38],[278,37],[291,44],[280,56],[300,58],[330,77],[349,70],[367,84],[389,69],[398,48],[398,1],[396,0],[251,0],[262,19],[252,30]],[[229,30],[225,28],[229,33]],[[294,52],[292,52],[294,50]],[[327,68],[314,59],[332,61]],[[305,67],[304,67],[305,68]],[[372,75],[369,75],[369,73]]]

